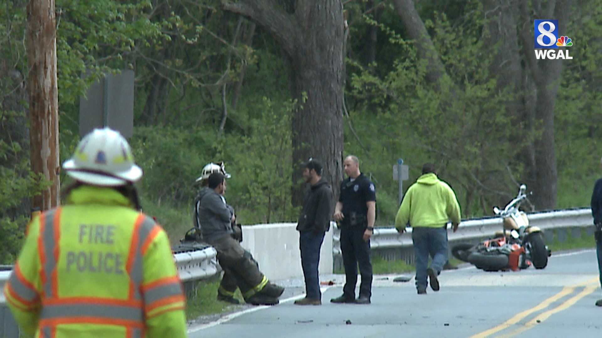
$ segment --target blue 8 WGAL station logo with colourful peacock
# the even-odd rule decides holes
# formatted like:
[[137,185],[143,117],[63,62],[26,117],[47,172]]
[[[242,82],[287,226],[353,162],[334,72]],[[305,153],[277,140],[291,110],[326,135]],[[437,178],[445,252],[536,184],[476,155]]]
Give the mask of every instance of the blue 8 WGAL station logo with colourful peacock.
[[533,34],[535,38],[535,57],[538,60],[573,60],[568,49],[558,49],[559,47],[573,46],[571,38],[558,34],[558,20],[534,20],[533,31],[535,32]]

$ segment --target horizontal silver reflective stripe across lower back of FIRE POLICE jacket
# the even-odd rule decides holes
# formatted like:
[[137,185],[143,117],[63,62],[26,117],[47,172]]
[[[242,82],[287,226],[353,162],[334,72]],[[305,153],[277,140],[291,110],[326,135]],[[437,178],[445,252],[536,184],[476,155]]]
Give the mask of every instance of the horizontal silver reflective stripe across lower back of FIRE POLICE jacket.
[[93,317],[143,321],[142,310],[134,307],[103,304],[46,305],[42,307],[40,319],[60,319],[73,317]]

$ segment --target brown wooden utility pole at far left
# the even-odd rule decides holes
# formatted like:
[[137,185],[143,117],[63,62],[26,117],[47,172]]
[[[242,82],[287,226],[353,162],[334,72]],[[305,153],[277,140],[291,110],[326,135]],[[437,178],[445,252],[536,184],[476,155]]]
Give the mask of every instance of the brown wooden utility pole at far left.
[[48,210],[60,202],[55,0],[29,0],[27,57],[31,170],[51,182],[41,195],[34,197],[33,207]]

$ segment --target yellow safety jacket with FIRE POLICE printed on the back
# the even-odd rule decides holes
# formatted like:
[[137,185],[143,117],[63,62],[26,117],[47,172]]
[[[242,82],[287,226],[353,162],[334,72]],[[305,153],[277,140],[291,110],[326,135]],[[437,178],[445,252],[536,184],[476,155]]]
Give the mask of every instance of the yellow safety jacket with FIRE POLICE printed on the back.
[[186,336],[166,233],[111,188],[73,189],[34,218],[4,295],[36,337]]

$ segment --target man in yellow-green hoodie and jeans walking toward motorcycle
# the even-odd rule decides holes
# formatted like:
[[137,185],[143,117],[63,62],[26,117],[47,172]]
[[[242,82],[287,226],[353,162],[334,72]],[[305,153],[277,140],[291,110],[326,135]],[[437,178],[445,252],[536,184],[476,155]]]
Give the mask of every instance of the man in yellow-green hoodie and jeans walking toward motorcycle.
[[[406,224],[412,227],[412,242],[416,259],[416,289],[426,294],[426,278],[430,279],[433,291],[439,290],[437,276],[447,262],[446,224],[452,221],[453,231],[460,224],[460,206],[456,194],[447,183],[439,180],[435,165],[422,167],[422,176],[411,185],[403,197],[395,218],[398,232],[405,231]],[[432,257],[430,266],[429,255]]]

